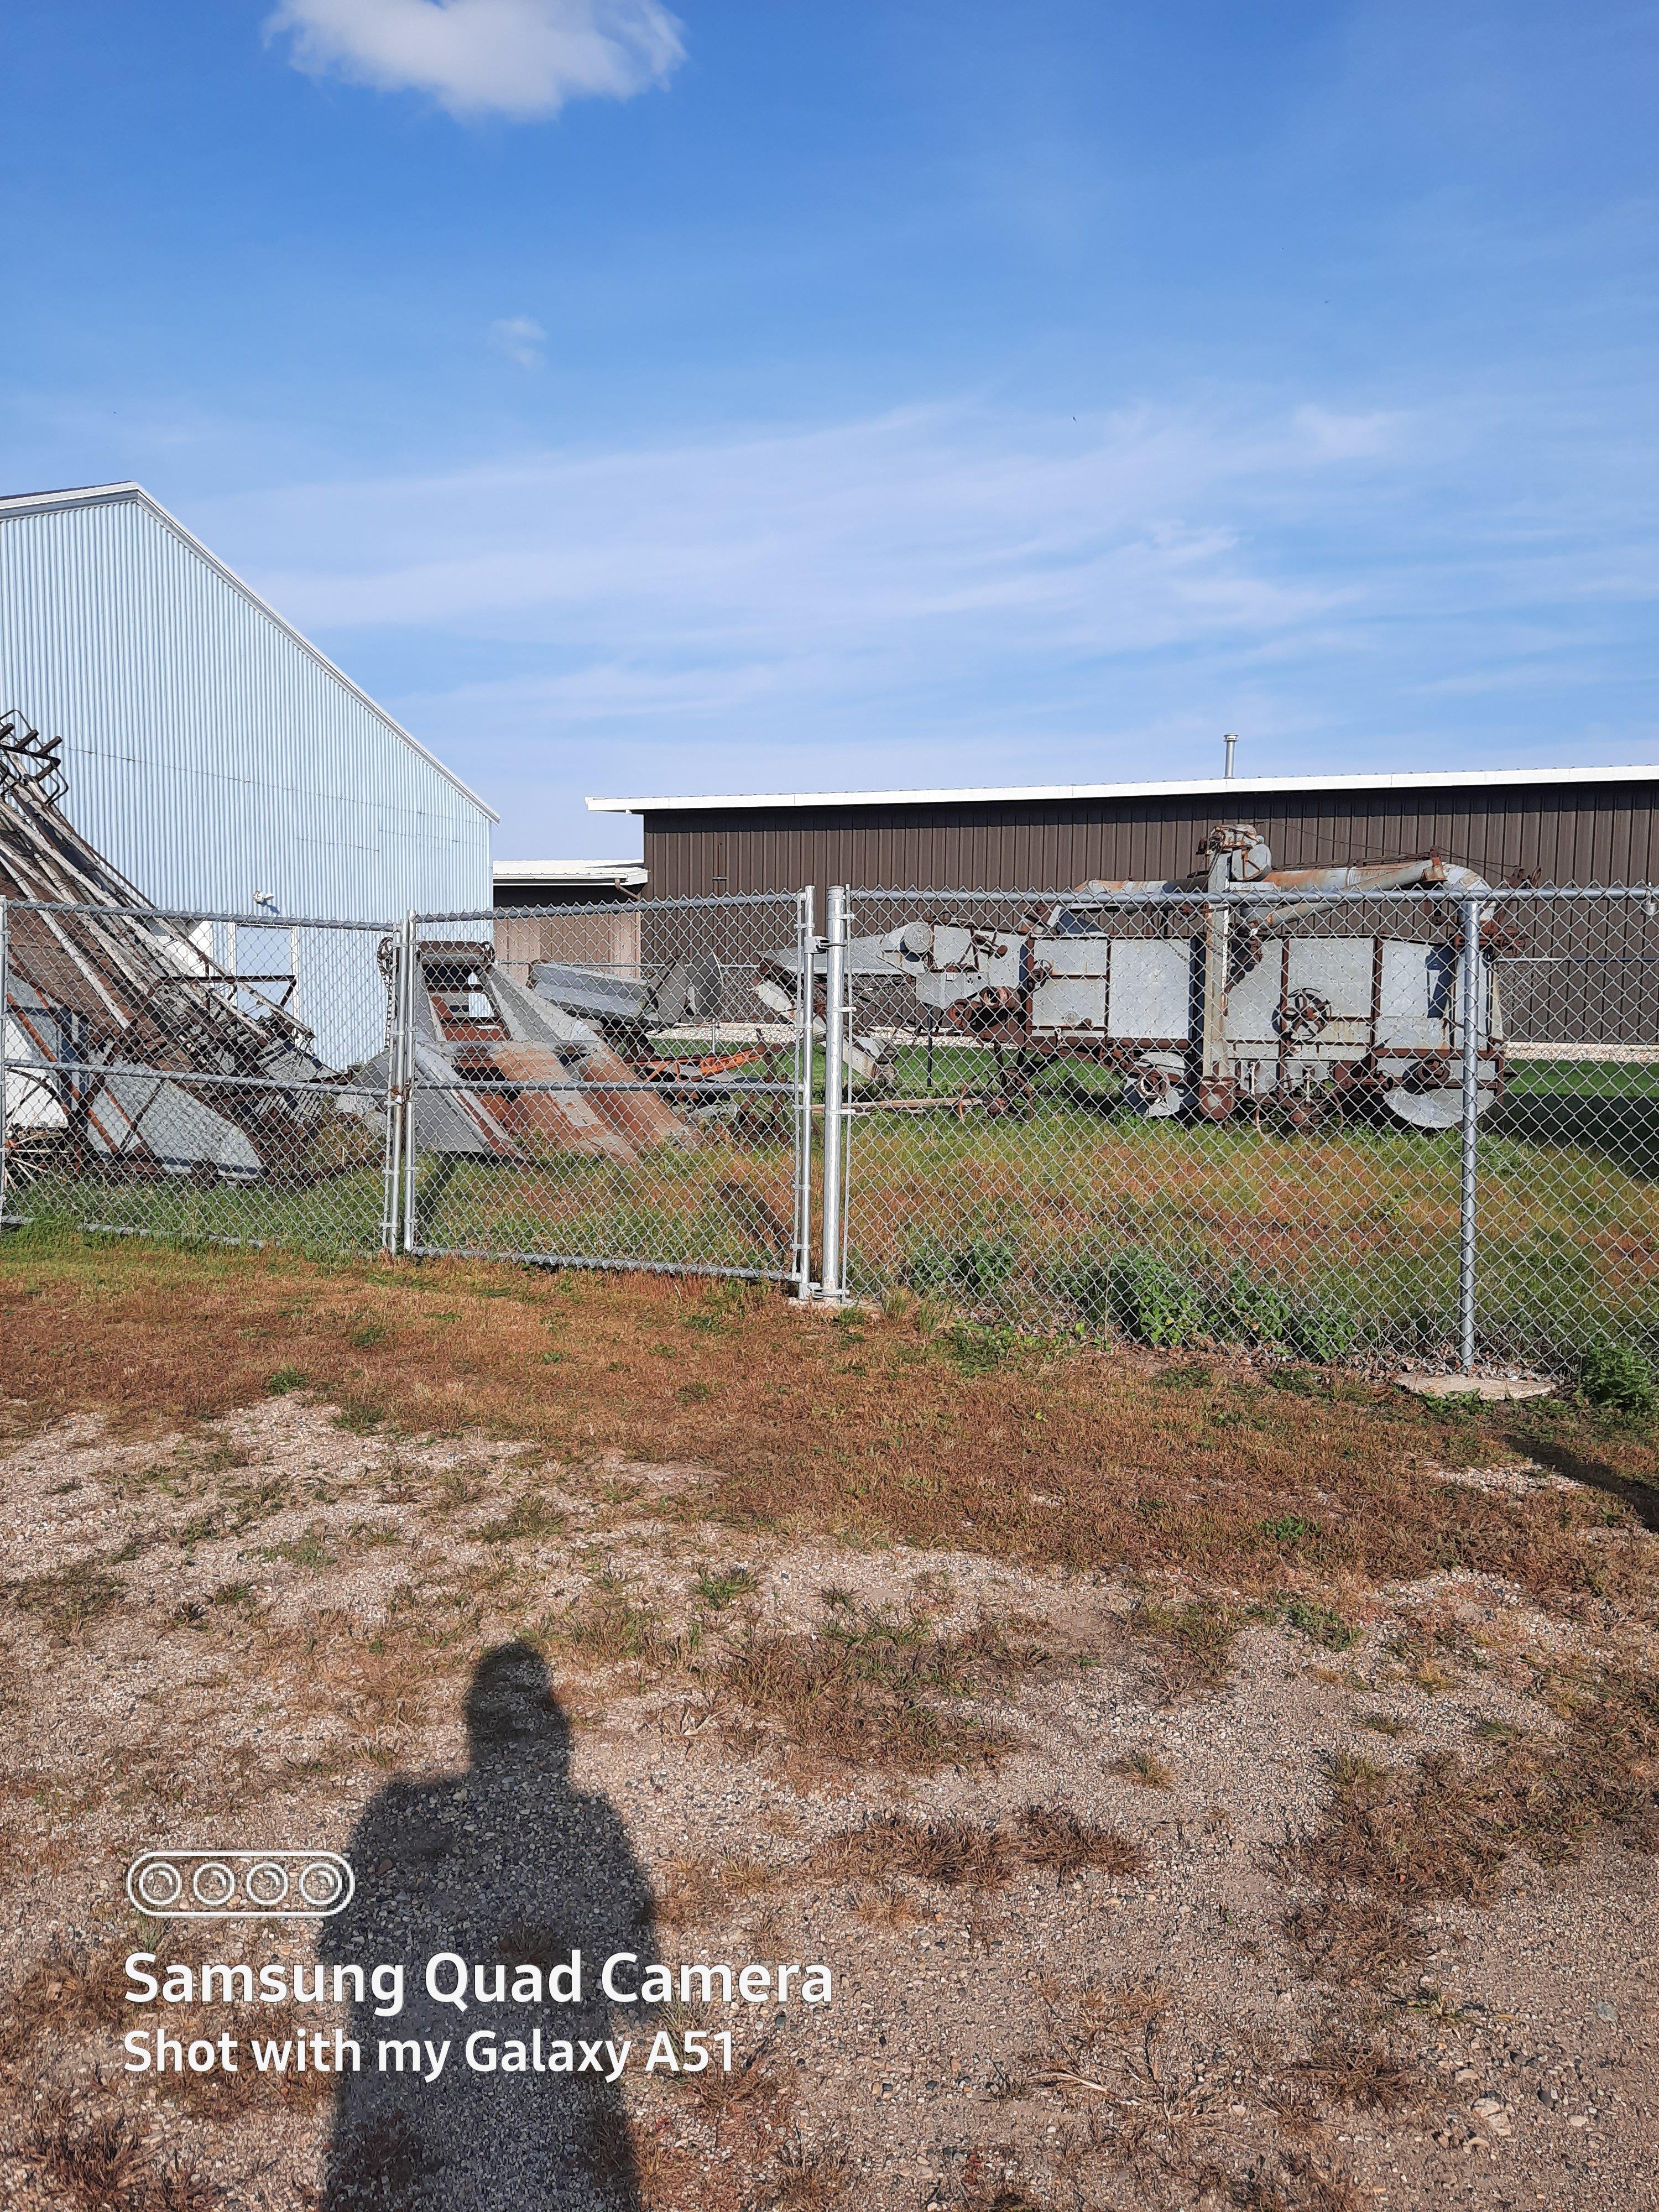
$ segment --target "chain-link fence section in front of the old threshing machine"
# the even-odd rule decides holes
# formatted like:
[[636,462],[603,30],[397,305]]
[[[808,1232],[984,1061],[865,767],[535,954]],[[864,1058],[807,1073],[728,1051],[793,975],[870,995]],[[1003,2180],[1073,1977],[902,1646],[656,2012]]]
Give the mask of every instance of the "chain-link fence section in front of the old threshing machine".
[[832,891],[825,964],[827,1292],[1310,1360],[1659,1349],[1652,891]]

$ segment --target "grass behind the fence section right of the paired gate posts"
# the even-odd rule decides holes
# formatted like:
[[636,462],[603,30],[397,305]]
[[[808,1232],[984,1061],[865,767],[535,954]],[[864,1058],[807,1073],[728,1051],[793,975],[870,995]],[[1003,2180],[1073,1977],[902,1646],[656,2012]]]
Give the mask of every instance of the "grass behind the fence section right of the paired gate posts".
[[[982,1318],[1279,1343],[1307,1360],[1453,1349],[1455,1130],[1141,1121],[1048,1084],[1018,1119],[856,1117],[856,1292],[909,1283]],[[1655,1170],[1655,1071],[1517,1068],[1480,1133],[1486,1356],[1573,1371],[1597,1334],[1659,1345]]]

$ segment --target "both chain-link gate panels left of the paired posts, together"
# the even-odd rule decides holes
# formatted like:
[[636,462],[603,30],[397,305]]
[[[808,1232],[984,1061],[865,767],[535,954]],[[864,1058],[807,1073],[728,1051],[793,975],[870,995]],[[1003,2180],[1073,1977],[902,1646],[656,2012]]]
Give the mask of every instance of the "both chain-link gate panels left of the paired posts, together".
[[807,911],[0,902],[0,1214],[801,1285]]

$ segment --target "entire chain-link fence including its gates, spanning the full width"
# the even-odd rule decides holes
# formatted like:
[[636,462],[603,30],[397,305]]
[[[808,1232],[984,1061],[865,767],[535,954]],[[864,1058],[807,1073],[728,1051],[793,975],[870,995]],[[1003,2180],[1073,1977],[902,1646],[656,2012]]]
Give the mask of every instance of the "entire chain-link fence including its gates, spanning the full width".
[[1652,891],[812,905],[0,902],[0,1214],[1314,1360],[1659,1352]]

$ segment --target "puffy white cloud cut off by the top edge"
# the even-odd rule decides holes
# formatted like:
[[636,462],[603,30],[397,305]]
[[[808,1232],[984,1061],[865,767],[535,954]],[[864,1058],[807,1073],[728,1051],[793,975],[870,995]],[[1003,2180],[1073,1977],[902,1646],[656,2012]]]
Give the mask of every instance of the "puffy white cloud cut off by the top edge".
[[661,0],[281,0],[299,69],[429,93],[451,115],[557,115],[566,100],[628,100],[684,60]]

